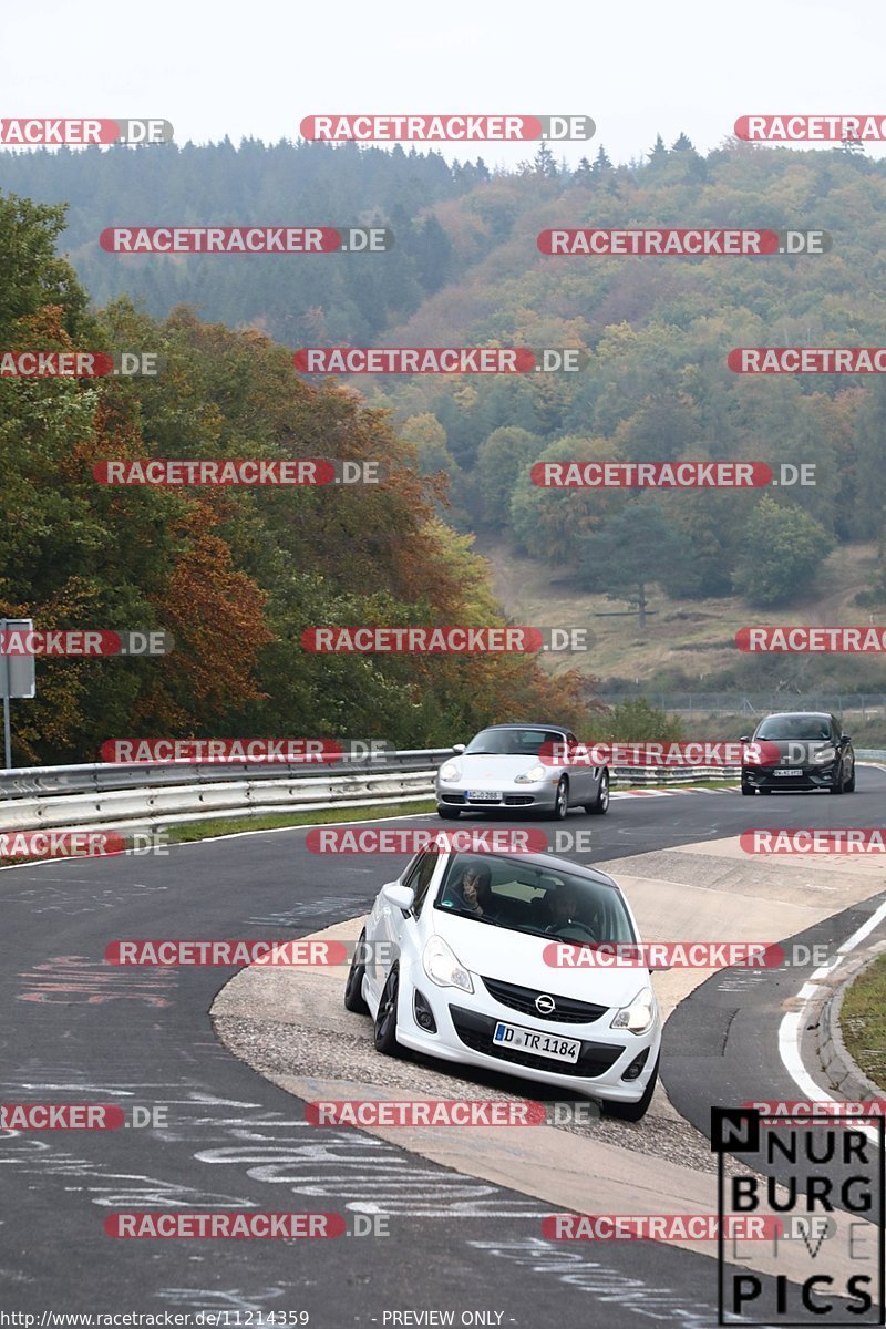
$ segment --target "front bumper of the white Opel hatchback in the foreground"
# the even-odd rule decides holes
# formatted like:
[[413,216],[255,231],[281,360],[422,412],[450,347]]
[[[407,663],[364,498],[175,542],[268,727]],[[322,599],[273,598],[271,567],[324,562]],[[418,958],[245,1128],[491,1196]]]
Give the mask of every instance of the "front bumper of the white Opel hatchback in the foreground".
[[[473,994],[457,987],[438,987],[420,965],[401,970],[397,1042],[428,1057],[478,1066],[498,1074],[510,1073],[521,1079],[562,1086],[588,1098],[636,1103],[643,1096],[662,1042],[658,1015],[646,1034],[611,1029],[612,1010],[587,1023],[533,1019],[495,1001],[477,974],[472,974],[472,981]],[[428,1033],[416,1022],[416,989],[433,1011],[436,1034]],[[559,1062],[535,1057],[522,1049],[495,1046],[491,1034],[498,1021],[539,1034],[578,1039],[582,1043],[579,1059],[576,1063]],[[640,1074],[636,1079],[623,1079],[642,1053],[647,1055]]]

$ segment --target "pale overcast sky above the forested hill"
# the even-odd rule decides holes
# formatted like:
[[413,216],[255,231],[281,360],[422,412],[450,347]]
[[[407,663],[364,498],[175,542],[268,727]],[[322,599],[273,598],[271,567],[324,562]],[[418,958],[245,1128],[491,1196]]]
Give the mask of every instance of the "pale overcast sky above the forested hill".
[[183,144],[295,138],[323,112],[580,113],[591,153],[628,161],[659,132],[707,152],[751,112],[886,116],[885,37],[882,0],[41,0],[5,7],[0,116],[162,117]]

